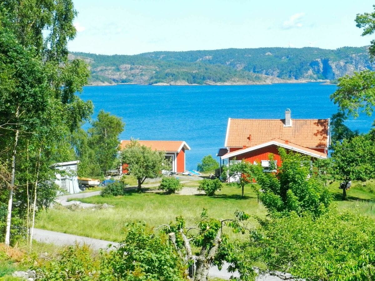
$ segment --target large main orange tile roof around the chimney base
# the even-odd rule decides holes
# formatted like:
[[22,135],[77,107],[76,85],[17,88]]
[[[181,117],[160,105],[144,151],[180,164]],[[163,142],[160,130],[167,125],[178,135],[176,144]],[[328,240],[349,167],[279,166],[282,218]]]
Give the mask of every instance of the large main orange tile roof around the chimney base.
[[284,120],[229,118],[225,146],[251,147],[276,138],[307,148],[328,146],[329,119],[292,119],[291,127],[284,127]]

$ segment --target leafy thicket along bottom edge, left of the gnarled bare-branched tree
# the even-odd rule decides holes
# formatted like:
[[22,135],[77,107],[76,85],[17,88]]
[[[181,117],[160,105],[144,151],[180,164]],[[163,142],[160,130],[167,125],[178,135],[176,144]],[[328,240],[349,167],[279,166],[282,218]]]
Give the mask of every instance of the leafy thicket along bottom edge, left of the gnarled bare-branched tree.
[[34,269],[40,281],[186,280],[186,265],[165,234],[155,235],[141,223],[126,228],[116,250],[93,255],[87,245],[77,244]]

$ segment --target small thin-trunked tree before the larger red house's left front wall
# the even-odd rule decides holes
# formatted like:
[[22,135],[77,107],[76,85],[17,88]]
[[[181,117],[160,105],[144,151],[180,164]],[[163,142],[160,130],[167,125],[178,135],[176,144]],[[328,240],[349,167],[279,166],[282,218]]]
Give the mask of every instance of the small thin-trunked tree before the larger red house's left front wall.
[[230,178],[231,185],[241,188],[243,197],[245,185],[253,182],[255,173],[258,173],[257,170],[259,170],[258,165],[252,165],[245,160],[236,161],[234,163],[229,163],[228,166],[223,168],[222,178]]

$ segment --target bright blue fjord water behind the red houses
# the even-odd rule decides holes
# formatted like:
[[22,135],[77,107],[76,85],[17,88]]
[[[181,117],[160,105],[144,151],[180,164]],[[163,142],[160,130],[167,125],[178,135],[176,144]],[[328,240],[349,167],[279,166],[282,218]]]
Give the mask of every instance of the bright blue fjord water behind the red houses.
[[[337,111],[329,99],[335,85],[320,83],[238,86],[115,85],[84,87],[81,98],[99,110],[123,118],[120,139],[186,141],[186,169],[196,169],[204,155],[216,158],[223,147],[228,117],[330,118]],[[373,118],[363,114],[347,121],[354,130],[367,132]]]

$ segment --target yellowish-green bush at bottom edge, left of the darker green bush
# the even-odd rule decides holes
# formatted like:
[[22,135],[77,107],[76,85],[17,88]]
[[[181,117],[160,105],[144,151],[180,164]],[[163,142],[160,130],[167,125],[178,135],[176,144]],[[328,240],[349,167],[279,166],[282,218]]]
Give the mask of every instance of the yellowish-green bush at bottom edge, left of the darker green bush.
[[38,280],[69,280],[91,281],[99,280],[99,261],[92,257],[89,246],[76,244],[60,253],[57,260],[51,260],[41,267],[34,268]]

